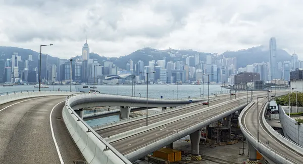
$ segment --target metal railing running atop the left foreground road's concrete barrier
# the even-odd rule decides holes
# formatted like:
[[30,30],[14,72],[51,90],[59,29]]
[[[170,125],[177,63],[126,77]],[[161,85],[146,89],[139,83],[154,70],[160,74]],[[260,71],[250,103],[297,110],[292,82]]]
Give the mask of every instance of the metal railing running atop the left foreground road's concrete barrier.
[[[83,94],[83,93],[82,93]],[[105,141],[98,133],[96,133],[85,121],[83,121],[81,119],[81,117],[78,116],[78,114],[71,108],[71,106],[68,104],[68,100],[69,98],[71,98],[73,95],[75,94],[72,94],[72,95],[69,95],[66,97],[65,99],[65,106],[66,108],[70,109],[72,111],[72,114],[74,114],[76,117],[77,117],[77,121],[80,121],[86,128],[87,128],[87,131],[86,132],[91,132],[96,138],[99,139],[99,141],[101,141],[103,144],[105,144],[106,146],[106,149],[110,149],[112,150],[112,152],[117,155],[124,163],[127,163],[127,164],[131,164],[131,162],[126,159],[119,151],[117,151],[111,144],[109,144],[107,141]],[[77,94],[77,95],[80,95],[80,94]]]

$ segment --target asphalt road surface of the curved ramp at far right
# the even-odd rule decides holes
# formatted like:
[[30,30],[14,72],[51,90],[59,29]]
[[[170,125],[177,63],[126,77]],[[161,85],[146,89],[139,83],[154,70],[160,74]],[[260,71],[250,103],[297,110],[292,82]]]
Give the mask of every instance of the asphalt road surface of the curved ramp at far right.
[[[296,152],[286,144],[280,142],[271,132],[267,130],[264,125],[263,119],[263,105],[267,102],[266,98],[259,99],[259,113],[257,115],[257,103],[250,107],[244,114],[241,119],[241,123],[244,128],[254,137],[258,137],[258,121],[259,119],[259,141],[268,146],[269,148],[276,151],[278,154],[282,154],[287,158],[294,161],[294,163],[302,163],[303,155]],[[268,141],[269,144],[266,144]],[[274,161],[274,160],[273,160]]]

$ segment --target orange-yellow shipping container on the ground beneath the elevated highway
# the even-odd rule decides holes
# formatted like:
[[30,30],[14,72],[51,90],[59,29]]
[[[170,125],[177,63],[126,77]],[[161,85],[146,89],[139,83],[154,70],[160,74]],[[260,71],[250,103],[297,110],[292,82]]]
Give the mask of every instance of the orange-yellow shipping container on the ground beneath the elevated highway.
[[153,156],[168,160],[169,162],[175,162],[181,160],[181,151],[172,148],[162,148],[155,151]]

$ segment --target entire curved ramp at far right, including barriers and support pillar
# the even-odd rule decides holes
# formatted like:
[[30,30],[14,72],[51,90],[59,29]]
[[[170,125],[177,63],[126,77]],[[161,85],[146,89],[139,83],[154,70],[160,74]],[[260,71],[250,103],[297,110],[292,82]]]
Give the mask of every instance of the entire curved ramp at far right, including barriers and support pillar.
[[275,132],[274,129],[266,123],[264,114],[267,106],[267,98],[259,99],[259,113],[257,112],[258,104],[257,101],[255,101],[255,103],[247,108],[239,117],[241,130],[245,138],[249,141],[250,160],[257,160],[256,150],[258,150],[271,163],[302,163],[302,149]]

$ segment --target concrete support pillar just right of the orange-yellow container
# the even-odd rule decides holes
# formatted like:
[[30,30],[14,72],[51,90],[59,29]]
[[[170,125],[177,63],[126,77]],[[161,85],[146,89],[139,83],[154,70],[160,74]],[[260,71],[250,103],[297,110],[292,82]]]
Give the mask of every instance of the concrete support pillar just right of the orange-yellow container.
[[199,142],[201,136],[201,130],[197,130],[191,134],[190,142],[191,142],[191,160],[201,160],[201,155],[199,155]]

